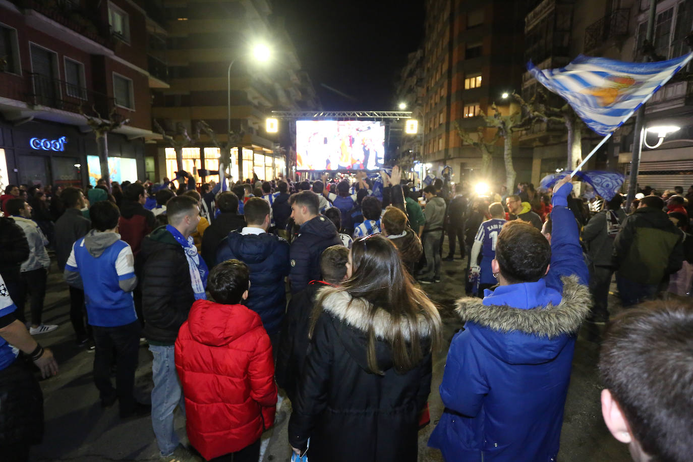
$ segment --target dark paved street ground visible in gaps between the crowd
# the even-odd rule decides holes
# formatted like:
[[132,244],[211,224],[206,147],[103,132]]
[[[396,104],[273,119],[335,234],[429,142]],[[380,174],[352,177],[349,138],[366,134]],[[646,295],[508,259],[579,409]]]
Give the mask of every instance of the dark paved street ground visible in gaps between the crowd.
[[[445,253],[444,253],[445,254]],[[453,312],[453,301],[462,296],[464,260],[444,262],[444,278],[439,284],[426,288],[432,299],[443,307],[446,322],[446,342],[460,327]],[[149,418],[121,421],[118,409],[100,408],[98,393],[91,381],[93,353],[77,348],[69,323],[67,286],[57,274],[55,263],[49,278],[46,297],[45,322],[58,323],[55,332],[38,339],[53,348],[60,362],[60,375],[42,382],[46,411],[46,432],[41,445],[33,447],[31,461],[158,461],[158,451]],[[613,298],[613,297],[612,297]],[[617,303],[615,299],[614,304]],[[573,361],[573,373],[565,407],[561,435],[561,461],[630,461],[625,445],[617,443],[608,434],[599,407],[599,383],[596,363],[599,330],[583,326]],[[439,418],[442,405],[437,387],[445,365],[445,353],[435,358],[430,412],[432,422]],[[139,397],[149,400],[152,387],[151,355],[146,348],[140,350],[137,370]],[[283,400],[281,410],[290,413],[290,402]],[[184,435],[184,419],[178,418],[179,434]],[[263,461],[288,461],[290,453],[286,438],[288,418],[263,436]],[[419,461],[441,461],[437,450],[426,447],[433,425],[419,435]]]

